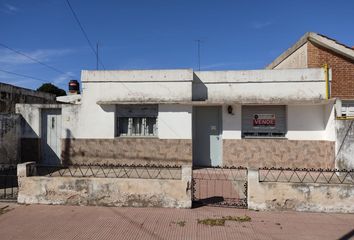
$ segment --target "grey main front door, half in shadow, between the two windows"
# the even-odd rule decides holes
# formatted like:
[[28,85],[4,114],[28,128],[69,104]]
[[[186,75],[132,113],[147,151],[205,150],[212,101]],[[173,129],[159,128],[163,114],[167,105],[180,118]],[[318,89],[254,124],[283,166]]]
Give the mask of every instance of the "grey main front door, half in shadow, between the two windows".
[[220,166],[221,107],[195,107],[193,122],[193,165]]

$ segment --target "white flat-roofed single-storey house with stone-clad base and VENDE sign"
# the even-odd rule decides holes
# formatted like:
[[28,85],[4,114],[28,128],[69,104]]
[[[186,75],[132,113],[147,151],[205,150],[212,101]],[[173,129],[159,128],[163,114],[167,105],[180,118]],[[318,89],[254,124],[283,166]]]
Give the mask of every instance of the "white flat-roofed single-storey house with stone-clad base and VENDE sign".
[[333,168],[323,68],[82,71],[76,104],[18,104],[44,164]]

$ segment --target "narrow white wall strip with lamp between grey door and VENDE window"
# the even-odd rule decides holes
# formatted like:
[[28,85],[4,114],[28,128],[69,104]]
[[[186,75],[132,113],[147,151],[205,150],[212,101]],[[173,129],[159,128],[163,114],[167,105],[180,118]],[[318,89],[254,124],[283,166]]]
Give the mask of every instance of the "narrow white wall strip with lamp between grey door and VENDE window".
[[241,105],[231,105],[232,114],[227,111],[229,105],[223,105],[222,108],[222,138],[223,139],[241,139]]

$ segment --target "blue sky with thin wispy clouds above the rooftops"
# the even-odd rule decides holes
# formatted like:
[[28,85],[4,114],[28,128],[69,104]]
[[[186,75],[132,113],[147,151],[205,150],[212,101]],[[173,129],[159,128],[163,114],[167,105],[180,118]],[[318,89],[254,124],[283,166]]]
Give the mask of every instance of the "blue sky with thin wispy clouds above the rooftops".
[[[106,69],[261,69],[305,32],[354,45],[353,0],[70,0]],[[67,90],[96,58],[65,0],[0,0],[0,69]],[[68,76],[71,75],[72,77]],[[42,82],[0,72],[0,81],[35,89]]]

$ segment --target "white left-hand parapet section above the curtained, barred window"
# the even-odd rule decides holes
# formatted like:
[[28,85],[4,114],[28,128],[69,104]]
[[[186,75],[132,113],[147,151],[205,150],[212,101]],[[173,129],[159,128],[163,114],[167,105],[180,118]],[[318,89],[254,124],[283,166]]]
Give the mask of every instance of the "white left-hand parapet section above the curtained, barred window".
[[121,102],[189,102],[193,71],[82,71],[83,99],[100,104]]

